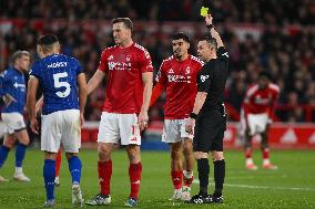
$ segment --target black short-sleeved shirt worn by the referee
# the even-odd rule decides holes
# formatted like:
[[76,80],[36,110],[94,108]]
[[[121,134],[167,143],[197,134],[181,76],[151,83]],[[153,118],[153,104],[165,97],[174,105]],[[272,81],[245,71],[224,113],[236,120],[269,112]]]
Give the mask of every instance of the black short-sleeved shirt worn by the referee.
[[205,63],[197,75],[197,91],[207,93],[201,114],[215,108],[221,109],[224,102],[228,54],[224,46],[219,48],[216,54],[217,58]]

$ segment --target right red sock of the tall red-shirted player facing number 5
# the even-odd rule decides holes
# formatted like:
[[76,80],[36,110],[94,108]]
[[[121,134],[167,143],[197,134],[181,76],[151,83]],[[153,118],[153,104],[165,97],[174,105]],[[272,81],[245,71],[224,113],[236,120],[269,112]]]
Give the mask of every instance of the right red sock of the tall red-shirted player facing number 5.
[[130,164],[129,165],[129,177],[130,177],[130,196],[131,198],[138,199],[140,190],[140,180],[142,174],[142,164]]

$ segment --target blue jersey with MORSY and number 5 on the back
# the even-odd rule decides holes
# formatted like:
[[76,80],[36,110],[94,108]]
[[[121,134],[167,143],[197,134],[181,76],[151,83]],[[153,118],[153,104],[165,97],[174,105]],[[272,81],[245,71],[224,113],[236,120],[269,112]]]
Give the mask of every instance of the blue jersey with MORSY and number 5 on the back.
[[35,62],[30,75],[40,81],[43,93],[42,114],[79,109],[77,77],[82,73],[78,60],[63,54],[52,54]]

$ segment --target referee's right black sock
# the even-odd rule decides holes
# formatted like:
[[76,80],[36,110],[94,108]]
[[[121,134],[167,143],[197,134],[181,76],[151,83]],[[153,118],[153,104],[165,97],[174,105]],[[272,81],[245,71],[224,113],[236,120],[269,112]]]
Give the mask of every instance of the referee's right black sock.
[[224,159],[216,160],[213,161],[213,165],[214,165],[214,182],[215,182],[215,190],[213,195],[215,197],[220,197],[222,196],[223,184],[225,178],[225,161]]

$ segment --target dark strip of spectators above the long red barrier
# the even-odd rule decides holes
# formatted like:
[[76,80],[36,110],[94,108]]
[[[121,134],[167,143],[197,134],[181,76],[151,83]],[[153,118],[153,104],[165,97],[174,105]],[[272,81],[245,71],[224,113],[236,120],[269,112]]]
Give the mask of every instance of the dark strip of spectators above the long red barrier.
[[[212,13],[219,22],[314,24],[313,0],[224,0],[212,1]],[[200,19],[202,1],[196,0],[54,0],[7,1],[1,3],[3,18],[65,18],[69,20],[130,17],[136,20]]]

